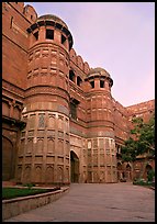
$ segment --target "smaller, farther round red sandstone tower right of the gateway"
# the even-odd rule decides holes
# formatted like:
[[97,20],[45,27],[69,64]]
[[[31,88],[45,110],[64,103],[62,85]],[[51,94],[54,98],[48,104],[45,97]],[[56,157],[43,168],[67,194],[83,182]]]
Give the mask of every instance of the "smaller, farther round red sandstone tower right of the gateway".
[[88,119],[88,181],[116,182],[116,152],[111,87],[103,68],[90,69],[86,78]]

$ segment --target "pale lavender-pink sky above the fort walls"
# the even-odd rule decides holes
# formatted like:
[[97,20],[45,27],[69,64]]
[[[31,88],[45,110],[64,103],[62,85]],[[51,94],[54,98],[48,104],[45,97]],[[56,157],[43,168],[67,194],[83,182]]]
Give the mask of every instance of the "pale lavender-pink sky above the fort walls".
[[155,2],[24,2],[55,14],[91,68],[113,79],[112,97],[127,107],[155,98]]

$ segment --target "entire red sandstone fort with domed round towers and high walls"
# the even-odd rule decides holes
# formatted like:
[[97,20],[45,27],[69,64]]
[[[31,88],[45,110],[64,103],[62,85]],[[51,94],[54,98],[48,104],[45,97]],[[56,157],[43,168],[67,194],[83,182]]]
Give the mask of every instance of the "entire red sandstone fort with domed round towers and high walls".
[[[154,100],[123,107],[104,68],[90,68],[58,16],[2,2],[2,180],[117,182],[143,161],[122,163],[132,117],[148,121]],[[147,161],[144,173],[154,167]]]

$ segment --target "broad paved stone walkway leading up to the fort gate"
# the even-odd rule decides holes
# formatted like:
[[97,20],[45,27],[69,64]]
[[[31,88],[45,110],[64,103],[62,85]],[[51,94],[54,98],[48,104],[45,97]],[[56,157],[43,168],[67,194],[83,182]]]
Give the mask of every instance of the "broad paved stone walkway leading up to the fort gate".
[[155,191],[132,183],[72,183],[57,201],[5,222],[155,222]]

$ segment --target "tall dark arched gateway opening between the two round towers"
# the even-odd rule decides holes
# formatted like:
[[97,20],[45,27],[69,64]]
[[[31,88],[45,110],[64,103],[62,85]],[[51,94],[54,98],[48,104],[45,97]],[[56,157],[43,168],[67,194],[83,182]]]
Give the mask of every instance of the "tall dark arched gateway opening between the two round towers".
[[70,173],[71,182],[79,182],[79,158],[72,150],[70,152]]

